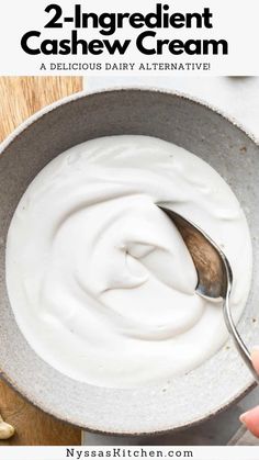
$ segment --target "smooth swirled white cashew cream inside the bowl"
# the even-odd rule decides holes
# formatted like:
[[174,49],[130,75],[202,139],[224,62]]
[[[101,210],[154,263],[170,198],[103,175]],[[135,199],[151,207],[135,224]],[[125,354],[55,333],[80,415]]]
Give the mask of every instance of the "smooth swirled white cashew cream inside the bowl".
[[244,212],[193,154],[136,135],[89,141],[32,181],[7,242],[7,284],[20,329],[52,367],[112,388],[170,381],[226,341],[221,303],[198,276],[164,204],[204,229],[234,272],[238,318],[251,277]]

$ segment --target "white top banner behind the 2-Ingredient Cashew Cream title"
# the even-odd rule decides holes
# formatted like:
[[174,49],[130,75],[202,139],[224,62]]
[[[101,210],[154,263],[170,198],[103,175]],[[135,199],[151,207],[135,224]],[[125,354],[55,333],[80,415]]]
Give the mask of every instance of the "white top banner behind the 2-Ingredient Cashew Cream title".
[[[79,8],[77,23],[76,4]],[[156,14],[157,4],[161,4],[165,23],[168,16],[170,19],[174,14],[173,26],[149,29],[146,24],[140,26],[139,20],[135,19],[135,23],[139,25],[135,29],[126,18],[123,20],[123,27],[116,27],[113,34],[106,35],[100,31],[108,31],[109,21],[113,21],[109,16],[103,20],[103,27],[92,27],[92,18],[88,20],[87,27],[80,26],[83,13],[94,13],[98,18],[103,13],[147,15]],[[165,5],[168,5],[168,9]],[[47,7],[48,12],[45,11]],[[210,9],[212,14],[206,23],[203,16],[202,24],[199,24],[194,15],[189,18],[190,23],[187,27],[187,13],[202,15],[204,9]],[[54,16],[55,26],[46,27]],[[0,7],[0,75],[259,75],[258,18],[258,0],[8,0],[1,2]],[[151,22],[155,25],[156,21],[153,16]],[[36,34],[29,36],[27,41],[24,38],[24,43],[38,54],[30,55],[21,46],[22,37],[31,31]],[[60,55],[60,41],[67,41],[68,49],[71,46],[72,31],[77,40],[83,41],[85,45],[75,45],[77,53],[74,55]],[[155,35],[148,35],[139,43],[147,52],[156,53],[160,46],[161,54],[146,55],[139,52],[137,38],[145,32],[153,32]],[[50,41],[47,45],[46,40]],[[130,44],[124,54],[116,51],[110,55],[106,42],[113,44],[116,40],[121,43],[128,41]],[[222,45],[218,45],[217,55],[212,53],[212,45],[209,45],[209,53],[204,54],[204,41],[212,40],[226,41],[228,54],[223,54]],[[169,43],[161,45],[161,41]],[[184,46],[188,41],[195,41],[190,45],[191,52],[195,54],[187,54]],[[173,44],[170,45],[171,42]],[[171,53],[170,47],[181,54]],[[92,48],[99,54],[92,54]],[[46,55],[44,49],[52,54]]]

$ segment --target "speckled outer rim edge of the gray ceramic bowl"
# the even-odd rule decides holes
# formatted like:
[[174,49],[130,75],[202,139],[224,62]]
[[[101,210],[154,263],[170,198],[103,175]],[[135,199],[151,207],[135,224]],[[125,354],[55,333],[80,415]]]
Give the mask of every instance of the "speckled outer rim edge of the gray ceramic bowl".
[[[5,139],[3,139],[3,142],[0,143],[0,161],[1,161],[1,156],[5,154],[5,149],[12,144],[12,142],[15,141],[15,138],[21,135],[27,127],[30,127],[31,125],[33,125],[34,123],[36,123],[37,121],[40,121],[42,117],[46,116],[48,113],[50,113],[52,111],[54,111],[55,109],[76,102],[77,100],[87,98],[87,97],[91,97],[91,96],[97,96],[97,94],[101,94],[101,93],[111,93],[111,92],[128,92],[128,91],[139,91],[139,92],[145,92],[145,93],[161,93],[161,94],[169,94],[169,96],[174,96],[177,98],[193,102],[198,105],[201,105],[205,109],[211,110],[212,112],[216,113],[217,115],[219,115],[223,120],[229,122],[230,124],[233,124],[234,126],[236,126],[240,132],[243,132],[243,134],[245,134],[257,147],[259,147],[259,139],[257,139],[257,137],[252,134],[252,132],[250,132],[249,130],[247,130],[241,123],[239,123],[235,117],[233,117],[230,114],[225,113],[224,111],[222,111],[221,109],[216,108],[215,105],[207,103],[206,101],[190,96],[188,93],[181,92],[181,91],[177,91],[177,90],[169,90],[169,89],[164,89],[164,88],[159,88],[159,87],[145,87],[145,86],[115,86],[112,88],[104,88],[104,89],[98,89],[98,90],[92,90],[92,91],[88,91],[88,90],[83,90],[83,91],[79,91],[77,93],[70,94],[68,97],[61,98],[58,101],[48,104],[46,106],[44,106],[43,109],[41,109],[40,111],[35,112],[33,115],[31,115],[29,119],[26,119],[24,122],[22,122],[15,130],[13,130],[11,132],[11,134],[9,134],[7,136]],[[68,425],[72,425],[76,426],[78,428],[81,428],[83,430],[87,430],[89,433],[93,433],[93,434],[100,434],[100,435],[112,435],[112,436],[128,436],[128,437],[133,437],[133,436],[154,436],[154,435],[162,435],[162,434],[167,434],[167,433],[171,433],[171,431],[179,431],[182,429],[187,429],[190,427],[193,427],[195,425],[201,424],[202,422],[209,420],[212,417],[214,417],[215,415],[222,413],[223,411],[227,409],[229,406],[232,406],[233,404],[237,403],[238,401],[240,401],[246,394],[248,394],[254,388],[257,386],[257,383],[255,382],[255,380],[252,379],[252,377],[250,377],[250,381],[249,383],[245,383],[244,386],[239,390],[238,393],[236,393],[236,395],[232,399],[229,399],[227,401],[227,403],[222,403],[222,405],[218,405],[217,409],[215,411],[209,411],[203,417],[199,417],[198,419],[193,419],[191,422],[188,423],[182,423],[181,425],[177,426],[177,427],[172,427],[172,428],[161,428],[161,429],[156,429],[156,430],[148,430],[148,431],[128,431],[128,430],[116,430],[116,431],[112,431],[111,430],[104,430],[104,429],[99,429],[95,427],[90,427],[90,426],[83,426],[83,425],[78,425],[78,422],[74,420],[71,417],[66,417],[60,416],[59,413],[57,413],[55,411],[55,408],[53,408],[52,411],[49,409],[49,407],[44,406],[43,402],[34,402],[33,400],[30,399],[30,395],[26,391],[24,391],[23,389],[21,389],[19,386],[19,383],[13,382],[12,379],[0,369],[0,378],[3,379],[3,381],[10,386],[12,388],[14,391],[16,391],[18,393],[20,393],[27,402],[30,402],[33,406],[40,408],[41,411],[43,411],[44,413],[50,415],[54,418],[58,418],[59,420],[63,420],[64,423],[68,424]]]

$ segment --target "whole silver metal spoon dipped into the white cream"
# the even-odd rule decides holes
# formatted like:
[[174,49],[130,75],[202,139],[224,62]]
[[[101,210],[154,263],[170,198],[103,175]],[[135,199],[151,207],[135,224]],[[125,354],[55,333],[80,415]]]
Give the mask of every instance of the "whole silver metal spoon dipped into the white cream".
[[202,298],[223,302],[225,324],[232,335],[237,350],[259,383],[251,356],[244,344],[232,317],[229,296],[233,285],[230,265],[221,248],[201,228],[168,207],[159,207],[171,218],[180,232],[198,272],[196,293]]

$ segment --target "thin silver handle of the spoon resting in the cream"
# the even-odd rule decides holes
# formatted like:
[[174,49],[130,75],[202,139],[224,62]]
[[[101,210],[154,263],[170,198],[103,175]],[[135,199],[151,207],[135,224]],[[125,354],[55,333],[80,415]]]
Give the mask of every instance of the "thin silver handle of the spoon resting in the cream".
[[225,319],[225,324],[227,326],[227,329],[229,332],[229,334],[232,335],[234,343],[236,345],[236,348],[240,355],[240,357],[243,358],[244,362],[246,363],[246,366],[248,367],[248,369],[250,370],[250,372],[254,375],[254,379],[256,380],[256,382],[259,384],[259,375],[257,374],[256,370],[254,369],[252,362],[251,362],[251,355],[248,351],[247,346],[244,344],[237,328],[236,325],[233,321],[233,316],[232,316],[232,312],[230,312],[230,306],[229,306],[229,292],[227,292],[226,299],[224,299],[223,302],[223,314],[224,314],[224,319]]

